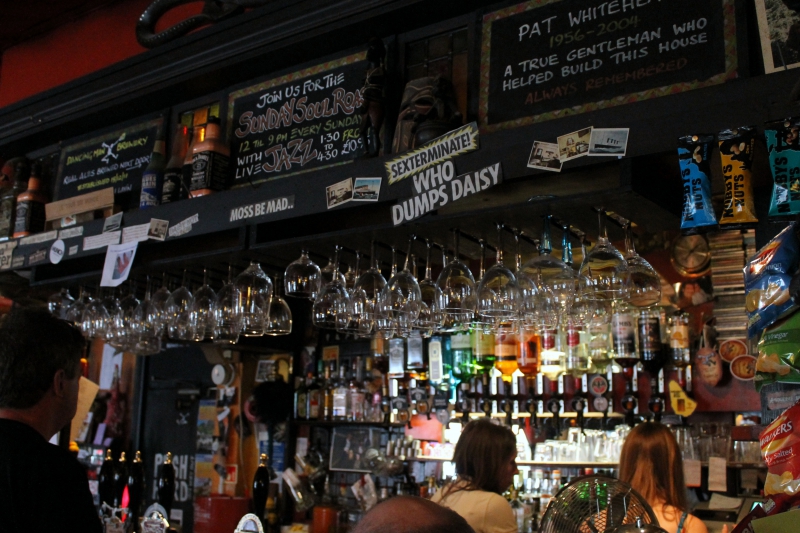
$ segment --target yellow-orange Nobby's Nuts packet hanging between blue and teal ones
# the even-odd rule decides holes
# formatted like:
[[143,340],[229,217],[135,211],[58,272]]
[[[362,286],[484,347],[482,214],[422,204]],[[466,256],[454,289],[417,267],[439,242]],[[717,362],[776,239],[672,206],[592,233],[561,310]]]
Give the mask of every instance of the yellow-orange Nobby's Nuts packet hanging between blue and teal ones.
[[719,132],[719,156],[722,177],[725,180],[725,200],[722,203],[723,224],[748,224],[758,222],[753,205],[753,181],[750,167],[753,163],[755,128],[742,126]]

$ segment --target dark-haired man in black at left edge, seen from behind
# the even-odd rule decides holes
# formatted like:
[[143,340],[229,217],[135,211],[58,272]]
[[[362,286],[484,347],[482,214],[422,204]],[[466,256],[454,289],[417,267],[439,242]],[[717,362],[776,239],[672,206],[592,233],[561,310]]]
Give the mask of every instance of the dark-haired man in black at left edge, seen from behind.
[[78,405],[80,331],[47,311],[0,321],[0,533],[100,533],[86,471],[48,441]]

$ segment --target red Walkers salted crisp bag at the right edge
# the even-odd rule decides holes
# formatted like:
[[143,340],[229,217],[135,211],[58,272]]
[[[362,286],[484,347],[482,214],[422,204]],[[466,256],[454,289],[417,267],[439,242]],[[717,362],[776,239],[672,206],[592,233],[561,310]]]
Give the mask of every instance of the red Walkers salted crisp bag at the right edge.
[[[800,401],[785,410],[758,436],[769,472],[764,494],[776,503],[800,494]],[[778,496],[781,496],[779,498]]]

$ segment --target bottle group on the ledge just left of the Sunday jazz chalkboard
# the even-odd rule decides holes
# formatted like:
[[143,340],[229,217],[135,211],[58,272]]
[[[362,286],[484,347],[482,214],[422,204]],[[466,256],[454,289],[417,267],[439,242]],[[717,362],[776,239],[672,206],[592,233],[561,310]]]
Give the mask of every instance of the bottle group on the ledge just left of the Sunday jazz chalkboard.
[[185,115],[166,156],[163,129],[142,174],[139,208],[207,196],[228,188],[230,147],[223,140],[219,118],[209,110]]

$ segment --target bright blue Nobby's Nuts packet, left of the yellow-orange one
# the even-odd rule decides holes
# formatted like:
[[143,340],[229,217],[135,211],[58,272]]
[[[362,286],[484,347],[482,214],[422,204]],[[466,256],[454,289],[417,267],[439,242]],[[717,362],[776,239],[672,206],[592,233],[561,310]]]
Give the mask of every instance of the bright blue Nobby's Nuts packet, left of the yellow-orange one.
[[681,230],[690,232],[716,226],[711,205],[711,146],[713,135],[686,135],[678,138],[678,161],[683,180]]

